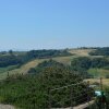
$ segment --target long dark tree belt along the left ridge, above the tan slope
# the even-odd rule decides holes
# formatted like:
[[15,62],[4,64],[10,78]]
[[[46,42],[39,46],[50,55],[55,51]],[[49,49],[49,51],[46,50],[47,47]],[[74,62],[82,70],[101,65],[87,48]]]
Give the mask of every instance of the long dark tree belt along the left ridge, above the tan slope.
[[44,59],[44,58],[52,58],[58,56],[70,56],[66,50],[32,50],[23,55],[15,55],[12,50],[9,51],[9,55],[0,55],[0,68],[9,66],[9,65],[22,65],[27,61],[34,59]]

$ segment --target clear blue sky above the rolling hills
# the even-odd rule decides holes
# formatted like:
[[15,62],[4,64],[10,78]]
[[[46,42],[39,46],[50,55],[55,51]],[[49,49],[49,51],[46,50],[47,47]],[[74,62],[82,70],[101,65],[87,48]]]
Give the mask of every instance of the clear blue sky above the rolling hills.
[[0,0],[0,49],[109,46],[109,0]]

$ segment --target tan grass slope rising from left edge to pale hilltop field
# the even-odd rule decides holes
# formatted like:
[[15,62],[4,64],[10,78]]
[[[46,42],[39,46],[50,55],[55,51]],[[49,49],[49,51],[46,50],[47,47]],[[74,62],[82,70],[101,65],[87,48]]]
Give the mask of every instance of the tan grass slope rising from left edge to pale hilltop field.
[[[57,57],[57,58],[52,58],[53,60],[58,61],[58,62],[61,62],[63,64],[70,64],[71,63],[71,60],[75,57],[84,57],[84,56],[88,56],[88,52],[90,51],[92,49],[70,49],[69,52],[71,52],[72,55],[74,56],[69,56],[69,57]],[[17,73],[27,73],[27,71],[31,69],[31,68],[35,68],[38,63],[45,61],[45,60],[48,60],[48,59],[36,59],[36,60],[33,60],[31,62],[27,62],[26,64],[22,65],[20,69],[14,69],[14,70],[11,70],[11,71],[4,71],[3,73],[0,73],[0,80],[3,80],[8,76],[8,72],[9,74],[17,74]]]

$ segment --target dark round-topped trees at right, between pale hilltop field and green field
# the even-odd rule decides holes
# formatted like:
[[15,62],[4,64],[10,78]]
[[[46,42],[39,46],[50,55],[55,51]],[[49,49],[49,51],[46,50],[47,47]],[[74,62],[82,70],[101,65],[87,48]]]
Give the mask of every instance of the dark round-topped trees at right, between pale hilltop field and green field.
[[78,57],[71,62],[72,68],[75,70],[83,69],[88,70],[90,68],[104,68],[109,65],[109,61],[106,58],[87,58]]

